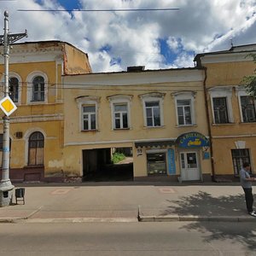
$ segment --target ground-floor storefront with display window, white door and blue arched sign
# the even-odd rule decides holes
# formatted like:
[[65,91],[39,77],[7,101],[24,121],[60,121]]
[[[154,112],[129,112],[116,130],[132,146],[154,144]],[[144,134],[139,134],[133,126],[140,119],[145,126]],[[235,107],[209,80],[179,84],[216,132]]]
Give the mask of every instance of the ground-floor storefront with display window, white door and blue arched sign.
[[135,152],[135,180],[211,180],[209,141],[199,132],[184,133],[177,139],[135,143]]

